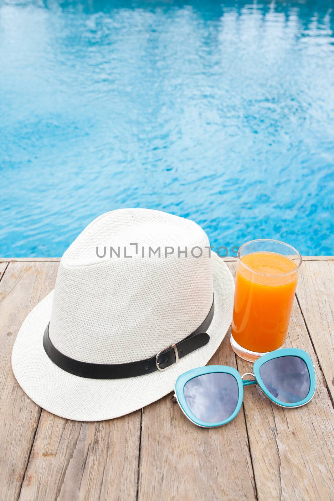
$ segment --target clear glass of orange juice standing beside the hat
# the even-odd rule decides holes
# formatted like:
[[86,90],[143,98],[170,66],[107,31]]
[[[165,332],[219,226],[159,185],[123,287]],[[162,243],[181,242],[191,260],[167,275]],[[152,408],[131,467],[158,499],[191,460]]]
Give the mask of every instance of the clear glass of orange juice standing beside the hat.
[[301,256],[287,243],[260,239],[239,248],[231,346],[253,362],[285,342]]

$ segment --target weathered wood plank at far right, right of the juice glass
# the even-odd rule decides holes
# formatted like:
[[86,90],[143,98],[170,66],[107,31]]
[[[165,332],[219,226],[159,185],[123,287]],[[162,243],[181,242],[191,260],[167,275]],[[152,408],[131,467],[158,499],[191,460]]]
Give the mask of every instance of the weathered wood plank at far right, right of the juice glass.
[[297,299],[334,400],[334,262],[303,263]]

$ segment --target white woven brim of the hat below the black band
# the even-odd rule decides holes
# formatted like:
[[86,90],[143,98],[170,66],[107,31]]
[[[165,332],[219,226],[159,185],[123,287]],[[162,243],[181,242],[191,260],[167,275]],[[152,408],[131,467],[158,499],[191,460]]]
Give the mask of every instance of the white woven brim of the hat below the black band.
[[205,365],[224,339],[231,323],[234,296],[232,275],[212,253],[215,310],[207,333],[209,343],[164,372],[126,379],[87,379],[60,369],[43,348],[43,334],[50,321],[53,292],[27,316],[12,352],[15,377],[38,405],[58,416],[77,421],[101,421],[129,414],[162,398],[185,371]]

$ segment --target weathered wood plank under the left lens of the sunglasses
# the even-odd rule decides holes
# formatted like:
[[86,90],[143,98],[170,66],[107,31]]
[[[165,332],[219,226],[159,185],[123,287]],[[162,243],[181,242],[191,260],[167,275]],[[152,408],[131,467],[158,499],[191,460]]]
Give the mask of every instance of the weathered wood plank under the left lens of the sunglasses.
[[[236,366],[227,333],[212,364]],[[138,499],[254,499],[244,413],[227,426],[193,425],[170,395],[143,409]]]

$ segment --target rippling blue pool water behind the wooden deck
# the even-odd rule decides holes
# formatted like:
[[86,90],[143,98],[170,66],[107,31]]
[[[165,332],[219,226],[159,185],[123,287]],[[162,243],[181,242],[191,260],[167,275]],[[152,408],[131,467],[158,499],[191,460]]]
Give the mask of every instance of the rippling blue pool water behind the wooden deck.
[[333,254],[332,8],[0,0],[0,256],[130,206]]

